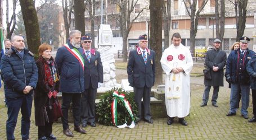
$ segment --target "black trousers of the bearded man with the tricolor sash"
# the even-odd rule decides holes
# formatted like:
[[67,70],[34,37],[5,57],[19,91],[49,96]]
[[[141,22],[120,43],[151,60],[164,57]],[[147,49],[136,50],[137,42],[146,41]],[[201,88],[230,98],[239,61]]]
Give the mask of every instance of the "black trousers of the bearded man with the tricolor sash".
[[82,96],[82,94],[80,94],[80,93],[64,93],[64,92],[62,92],[61,110],[62,110],[63,116],[61,117],[61,121],[62,121],[62,127],[64,130],[69,128],[68,111],[69,111],[69,106],[70,106],[71,101],[72,101],[72,106],[73,106],[74,125],[75,125],[75,127],[78,127],[80,125],[81,96]]

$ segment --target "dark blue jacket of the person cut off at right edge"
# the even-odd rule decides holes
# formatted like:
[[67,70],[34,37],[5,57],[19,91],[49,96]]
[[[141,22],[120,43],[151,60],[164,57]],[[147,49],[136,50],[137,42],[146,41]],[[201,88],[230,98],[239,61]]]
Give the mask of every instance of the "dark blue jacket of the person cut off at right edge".
[[256,72],[256,55],[249,60],[246,65],[246,69],[250,76],[250,87],[251,89],[256,90],[256,78],[251,76],[251,74]]

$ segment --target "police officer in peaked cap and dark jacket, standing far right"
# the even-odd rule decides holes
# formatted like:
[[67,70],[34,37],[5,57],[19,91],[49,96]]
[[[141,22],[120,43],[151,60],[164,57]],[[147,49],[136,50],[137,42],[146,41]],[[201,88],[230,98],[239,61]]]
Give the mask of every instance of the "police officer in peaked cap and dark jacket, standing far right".
[[240,38],[240,49],[232,50],[228,55],[226,66],[226,81],[231,83],[230,95],[230,111],[227,116],[236,115],[237,101],[239,96],[239,88],[241,89],[241,116],[248,119],[247,108],[249,106],[249,74],[246,70],[246,64],[255,55],[255,53],[248,49],[250,39],[246,36]]

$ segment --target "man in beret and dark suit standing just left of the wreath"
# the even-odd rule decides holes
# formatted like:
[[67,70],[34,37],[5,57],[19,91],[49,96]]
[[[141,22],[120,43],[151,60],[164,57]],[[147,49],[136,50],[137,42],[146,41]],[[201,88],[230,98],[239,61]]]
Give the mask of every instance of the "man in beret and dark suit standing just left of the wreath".
[[89,35],[82,36],[84,49],[84,92],[82,94],[81,123],[82,127],[96,127],[95,100],[97,88],[103,83],[103,67],[100,52],[91,48],[92,40]]

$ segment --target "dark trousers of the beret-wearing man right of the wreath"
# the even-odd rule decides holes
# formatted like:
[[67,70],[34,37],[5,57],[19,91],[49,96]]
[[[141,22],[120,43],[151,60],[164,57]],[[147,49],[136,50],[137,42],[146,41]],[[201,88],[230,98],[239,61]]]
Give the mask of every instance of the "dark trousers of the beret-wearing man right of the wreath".
[[[142,88],[133,87],[134,90],[134,100],[138,106],[138,118],[142,118],[144,116],[145,120],[149,120],[152,118],[151,116],[151,110],[150,110],[150,92],[151,87],[146,87],[146,85]],[[142,114],[142,105],[141,105],[141,99],[143,97],[143,114]]]

